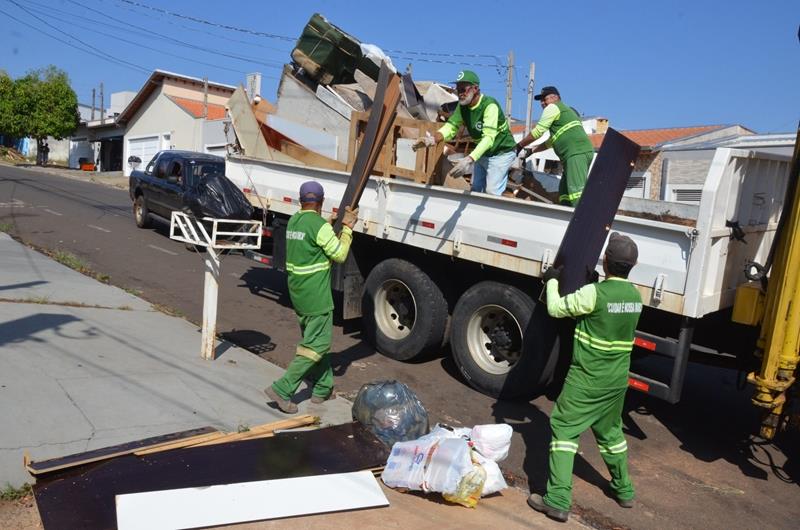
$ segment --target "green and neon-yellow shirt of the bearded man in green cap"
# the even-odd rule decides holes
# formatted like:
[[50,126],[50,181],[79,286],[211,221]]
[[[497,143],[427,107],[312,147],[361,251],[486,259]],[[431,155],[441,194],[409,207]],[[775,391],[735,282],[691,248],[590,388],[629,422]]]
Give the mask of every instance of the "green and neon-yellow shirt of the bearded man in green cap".
[[464,125],[469,135],[478,142],[469,154],[473,160],[483,155],[495,156],[514,149],[517,142],[508,128],[508,120],[500,110],[496,99],[481,94],[478,102],[471,107],[458,105],[453,115],[447,120],[439,132],[446,140],[451,140]]

